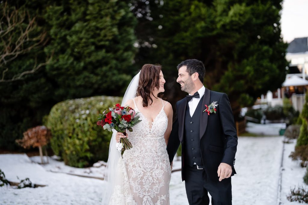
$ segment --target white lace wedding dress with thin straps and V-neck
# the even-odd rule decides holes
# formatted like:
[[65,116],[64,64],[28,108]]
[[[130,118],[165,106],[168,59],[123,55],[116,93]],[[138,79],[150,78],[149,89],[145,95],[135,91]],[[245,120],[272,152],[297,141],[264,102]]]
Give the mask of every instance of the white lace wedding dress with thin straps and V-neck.
[[171,168],[164,139],[168,125],[165,105],[154,122],[148,123],[133,101],[142,121],[128,132],[133,147],[120,157],[109,204],[168,205]]

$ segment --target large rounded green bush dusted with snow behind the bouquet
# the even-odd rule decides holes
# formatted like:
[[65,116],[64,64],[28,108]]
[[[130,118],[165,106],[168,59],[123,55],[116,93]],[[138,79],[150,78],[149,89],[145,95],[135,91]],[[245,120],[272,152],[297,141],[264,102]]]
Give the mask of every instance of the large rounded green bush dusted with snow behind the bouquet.
[[51,148],[65,164],[86,167],[108,159],[111,132],[96,124],[96,117],[108,107],[121,103],[120,97],[96,96],[59,102],[47,120]]

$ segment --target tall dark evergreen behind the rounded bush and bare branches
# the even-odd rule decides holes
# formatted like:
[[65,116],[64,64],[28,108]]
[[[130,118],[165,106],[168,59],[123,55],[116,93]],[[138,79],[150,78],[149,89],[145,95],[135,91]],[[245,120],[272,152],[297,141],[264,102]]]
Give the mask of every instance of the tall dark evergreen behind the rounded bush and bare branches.
[[[1,8],[3,5],[2,1]],[[8,62],[6,77],[31,70],[50,56],[52,61],[23,79],[0,82],[0,148],[18,149],[15,139],[42,124],[43,116],[57,102],[124,93],[134,73],[126,68],[136,53],[136,19],[128,1],[17,0],[8,5],[35,17],[30,36],[46,33],[47,41]],[[24,19],[24,27],[28,19]],[[0,68],[1,74],[6,67]]]

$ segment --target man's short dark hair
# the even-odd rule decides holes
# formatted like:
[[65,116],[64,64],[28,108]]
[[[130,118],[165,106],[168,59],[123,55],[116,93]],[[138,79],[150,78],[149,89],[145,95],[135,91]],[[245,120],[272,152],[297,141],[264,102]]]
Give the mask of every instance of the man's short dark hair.
[[199,74],[199,80],[203,83],[204,75],[205,75],[205,67],[203,62],[198,61],[196,59],[189,59],[182,61],[179,65],[177,65],[177,70],[180,69],[180,67],[186,66],[186,71],[189,75],[192,75],[194,73]]

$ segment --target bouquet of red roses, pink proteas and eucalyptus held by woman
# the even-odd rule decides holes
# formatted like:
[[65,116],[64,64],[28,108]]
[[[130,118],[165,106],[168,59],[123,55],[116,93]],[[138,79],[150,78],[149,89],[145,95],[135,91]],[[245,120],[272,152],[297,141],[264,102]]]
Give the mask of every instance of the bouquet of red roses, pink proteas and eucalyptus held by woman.
[[[104,130],[115,129],[124,135],[126,135],[126,129],[132,132],[132,127],[141,122],[136,111],[129,106],[121,107],[119,103],[103,111],[97,119],[96,124],[102,126]],[[118,151],[124,151],[132,148],[132,144],[127,138],[120,138],[120,143],[117,143],[116,147]]]

